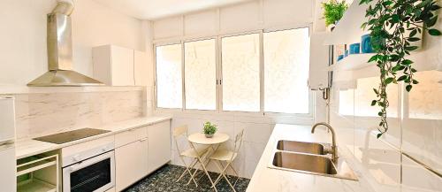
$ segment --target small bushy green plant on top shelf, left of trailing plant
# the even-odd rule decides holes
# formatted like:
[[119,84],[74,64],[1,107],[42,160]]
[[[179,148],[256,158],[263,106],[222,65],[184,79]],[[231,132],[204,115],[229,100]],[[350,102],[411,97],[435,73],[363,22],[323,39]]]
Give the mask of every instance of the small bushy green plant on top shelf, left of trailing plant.
[[337,0],[330,0],[330,2],[323,3],[325,26],[335,24],[344,16],[348,5],[345,0],[338,2]]

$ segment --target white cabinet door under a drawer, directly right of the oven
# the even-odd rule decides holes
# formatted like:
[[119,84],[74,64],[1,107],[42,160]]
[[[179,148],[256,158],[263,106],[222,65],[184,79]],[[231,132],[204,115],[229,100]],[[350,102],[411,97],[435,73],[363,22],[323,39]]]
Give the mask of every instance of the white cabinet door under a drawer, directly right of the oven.
[[148,138],[115,149],[116,191],[129,187],[148,172]]

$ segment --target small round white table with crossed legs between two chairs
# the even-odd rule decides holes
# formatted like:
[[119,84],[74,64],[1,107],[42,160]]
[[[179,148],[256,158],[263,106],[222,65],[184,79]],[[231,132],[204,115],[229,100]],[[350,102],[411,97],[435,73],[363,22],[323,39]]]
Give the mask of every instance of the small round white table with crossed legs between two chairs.
[[[210,145],[210,148],[213,150],[212,152],[214,152],[219,148],[219,146],[223,142],[227,142],[229,140],[229,135],[223,134],[223,133],[217,133],[217,134],[213,134],[213,137],[207,138],[205,134],[196,133],[196,134],[190,134],[187,137],[187,139],[190,142],[190,144],[192,144],[192,148],[194,150],[195,150],[194,144],[202,144],[202,145]],[[196,154],[198,154],[198,153],[196,153]],[[210,178],[210,175],[206,169],[206,165],[209,164],[209,161],[204,163],[204,161],[206,160],[205,159],[206,157],[209,157],[209,155],[202,154],[202,157],[197,157],[197,159],[202,167],[202,170],[204,171],[204,173],[206,173],[207,177],[209,177],[210,183],[212,184],[212,186],[214,186],[213,180]],[[196,173],[196,171],[195,171],[195,173]],[[192,177],[194,177],[194,174],[192,175]],[[217,188],[214,188],[214,189],[215,189],[215,191],[217,191]]]

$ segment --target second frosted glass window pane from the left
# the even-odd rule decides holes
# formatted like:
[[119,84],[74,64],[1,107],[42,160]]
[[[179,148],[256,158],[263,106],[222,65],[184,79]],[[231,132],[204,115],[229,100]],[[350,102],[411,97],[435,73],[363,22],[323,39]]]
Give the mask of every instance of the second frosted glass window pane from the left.
[[186,109],[217,109],[215,40],[184,43]]

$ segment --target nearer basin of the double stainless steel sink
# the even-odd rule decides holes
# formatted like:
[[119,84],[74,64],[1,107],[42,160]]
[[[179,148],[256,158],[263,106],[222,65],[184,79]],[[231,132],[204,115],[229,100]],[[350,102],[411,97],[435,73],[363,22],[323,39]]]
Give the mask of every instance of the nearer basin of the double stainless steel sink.
[[278,151],[273,157],[272,164],[280,168],[308,173],[329,175],[338,173],[331,159],[323,156]]

